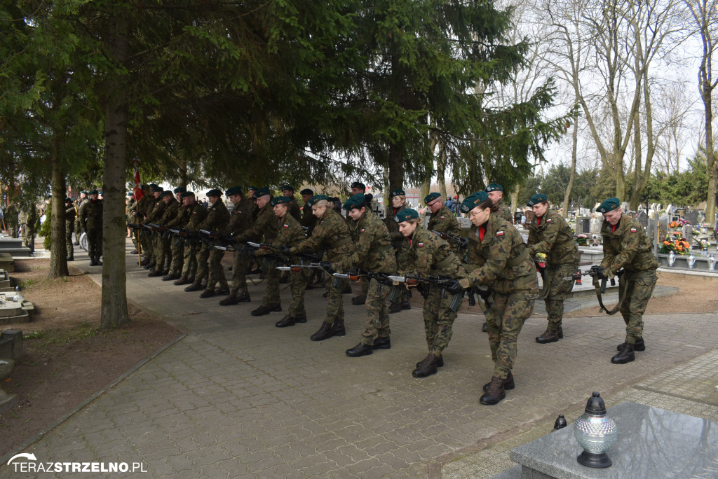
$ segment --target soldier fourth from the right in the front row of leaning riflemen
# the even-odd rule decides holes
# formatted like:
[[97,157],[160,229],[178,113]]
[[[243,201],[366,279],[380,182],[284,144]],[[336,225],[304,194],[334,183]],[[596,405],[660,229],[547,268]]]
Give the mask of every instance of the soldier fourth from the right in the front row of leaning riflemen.
[[[289,254],[297,252],[325,250],[327,259],[337,263],[343,256],[352,255],[354,243],[349,234],[349,228],[345,219],[332,208],[329,198],[323,194],[317,194],[309,199],[314,216],[319,220],[314,228],[312,236],[290,248]],[[347,285],[346,280],[337,280],[331,275],[327,278],[329,294],[327,298],[327,316],[319,331],[312,334],[312,341],[323,341],[332,336],[344,336],[344,306],[342,305],[342,291]]]

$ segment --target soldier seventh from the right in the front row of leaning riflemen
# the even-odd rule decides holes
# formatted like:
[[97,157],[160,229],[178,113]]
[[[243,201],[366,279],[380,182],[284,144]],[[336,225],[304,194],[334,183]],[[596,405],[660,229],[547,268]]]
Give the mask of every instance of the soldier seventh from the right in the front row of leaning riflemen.
[[[225,194],[229,196],[230,201],[234,204],[232,216],[230,216],[229,224],[224,230],[224,234],[229,234],[236,242],[236,248],[241,250],[241,243],[256,240],[253,236],[252,228],[254,227],[254,219],[250,209],[250,203],[242,194],[240,186],[233,186],[228,189]],[[220,301],[220,305],[229,306],[238,303],[249,303],[249,291],[247,290],[247,278],[249,268],[252,266],[253,259],[246,251],[235,251],[232,261],[232,288],[227,298]]]

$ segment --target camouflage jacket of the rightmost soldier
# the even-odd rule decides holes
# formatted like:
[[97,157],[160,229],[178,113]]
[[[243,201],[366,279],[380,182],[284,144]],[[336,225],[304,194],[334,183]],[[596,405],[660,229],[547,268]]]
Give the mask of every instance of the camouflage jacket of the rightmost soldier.
[[604,220],[601,227],[603,235],[603,260],[601,266],[607,270],[609,278],[622,267],[628,272],[655,270],[658,260],[653,255],[653,245],[648,234],[635,219],[621,214],[615,231]]

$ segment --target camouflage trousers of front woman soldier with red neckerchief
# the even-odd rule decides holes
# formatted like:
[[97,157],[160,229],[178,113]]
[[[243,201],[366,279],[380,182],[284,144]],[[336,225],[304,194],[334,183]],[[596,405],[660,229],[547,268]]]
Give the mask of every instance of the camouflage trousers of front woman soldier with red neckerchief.
[[489,333],[491,359],[494,361],[493,376],[506,379],[516,361],[518,346],[516,340],[523,328],[523,322],[533,313],[531,293],[494,293],[490,315],[486,316]]

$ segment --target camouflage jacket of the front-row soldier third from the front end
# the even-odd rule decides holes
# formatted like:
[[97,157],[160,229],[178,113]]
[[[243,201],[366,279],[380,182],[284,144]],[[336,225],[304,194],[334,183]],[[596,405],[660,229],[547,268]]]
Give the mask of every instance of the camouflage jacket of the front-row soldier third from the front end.
[[347,225],[355,251],[341,258],[339,263],[343,269],[360,267],[370,272],[396,272],[396,257],[389,232],[376,214],[366,209],[359,221],[350,218]]

